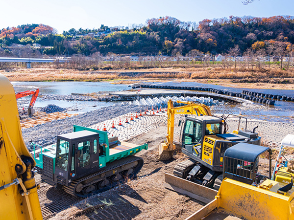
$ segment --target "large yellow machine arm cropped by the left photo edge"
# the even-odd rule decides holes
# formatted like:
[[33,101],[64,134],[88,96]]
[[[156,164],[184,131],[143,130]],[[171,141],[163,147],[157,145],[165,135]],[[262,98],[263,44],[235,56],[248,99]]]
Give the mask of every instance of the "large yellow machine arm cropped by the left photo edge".
[[0,74],[0,219],[42,220],[35,161],[22,136],[14,89]]

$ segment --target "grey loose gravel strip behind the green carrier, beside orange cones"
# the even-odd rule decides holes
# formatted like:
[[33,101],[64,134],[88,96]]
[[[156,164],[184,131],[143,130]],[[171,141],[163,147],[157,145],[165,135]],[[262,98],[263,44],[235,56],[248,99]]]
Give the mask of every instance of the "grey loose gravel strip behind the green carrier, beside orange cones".
[[46,124],[36,125],[33,128],[22,130],[25,145],[29,150],[32,150],[30,141],[33,141],[35,144],[45,147],[49,144],[56,143],[56,136],[58,134],[73,132],[73,125],[89,127],[129,112],[140,112],[140,110],[145,109],[146,106],[139,107],[122,103],[110,107],[103,107],[98,110],[75,115],[69,118],[52,121]]

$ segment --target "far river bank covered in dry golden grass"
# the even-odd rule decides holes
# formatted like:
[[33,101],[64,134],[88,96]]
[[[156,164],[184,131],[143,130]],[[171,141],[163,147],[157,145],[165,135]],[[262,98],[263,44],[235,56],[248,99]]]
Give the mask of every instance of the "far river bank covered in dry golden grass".
[[132,84],[146,81],[197,82],[232,88],[294,89],[294,73],[275,69],[269,72],[250,72],[221,68],[150,68],[82,71],[56,68],[12,68],[0,70],[10,81],[107,81],[113,84]]

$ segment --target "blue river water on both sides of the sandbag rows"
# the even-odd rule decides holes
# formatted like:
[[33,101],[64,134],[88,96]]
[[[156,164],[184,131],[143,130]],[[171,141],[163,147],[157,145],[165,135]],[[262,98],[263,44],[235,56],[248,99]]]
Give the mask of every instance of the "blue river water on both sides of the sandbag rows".
[[[222,90],[242,92],[245,88],[230,88],[212,84],[201,84],[195,82],[166,82],[154,83],[170,86],[187,86],[187,87],[207,87],[217,88]],[[115,85],[107,82],[12,82],[15,92],[40,89],[40,94],[57,94],[70,95],[71,93],[92,93],[98,91],[119,91],[129,89],[128,85]],[[294,90],[281,89],[246,89],[249,91],[263,92],[269,94],[287,95],[294,97]],[[27,100],[30,97],[25,97]],[[43,100],[38,98],[35,103],[35,108],[42,108],[49,104],[54,104],[62,108],[70,108],[69,113],[83,113],[90,110],[96,110],[105,106],[113,105],[114,102],[88,102],[88,101],[63,101],[63,100]],[[71,110],[72,109],[72,110]],[[221,107],[220,107],[221,109]],[[222,108],[223,112],[227,112],[227,106]],[[289,122],[294,118],[294,103],[276,101],[274,107],[269,107],[262,104],[252,104],[250,106],[237,105],[230,106],[229,113],[251,116],[256,119]],[[251,118],[250,117],[250,118]]]

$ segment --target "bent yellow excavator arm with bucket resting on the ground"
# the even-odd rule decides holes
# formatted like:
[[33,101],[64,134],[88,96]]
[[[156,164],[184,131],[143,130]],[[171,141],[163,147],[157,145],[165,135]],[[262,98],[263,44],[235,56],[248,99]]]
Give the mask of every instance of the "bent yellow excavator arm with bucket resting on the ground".
[[168,160],[172,158],[173,151],[175,150],[175,145],[173,144],[173,130],[174,130],[174,115],[175,114],[194,114],[194,115],[212,115],[210,108],[206,105],[186,102],[186,101],[176,101],[177,103],[186,104],[185,106],[173,107],[173,101],[168,102],[168,135],[167,142],[161,143],[159,145],[159,160]]

